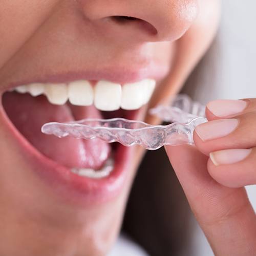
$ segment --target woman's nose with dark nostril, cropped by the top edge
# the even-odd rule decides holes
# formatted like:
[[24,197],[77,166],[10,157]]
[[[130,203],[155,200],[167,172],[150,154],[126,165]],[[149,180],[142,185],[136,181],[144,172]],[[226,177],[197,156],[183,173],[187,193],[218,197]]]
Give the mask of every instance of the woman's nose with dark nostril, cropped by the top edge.
[[116,40],[173,41],[198,13],[197,0],[77,0],[95,30]]

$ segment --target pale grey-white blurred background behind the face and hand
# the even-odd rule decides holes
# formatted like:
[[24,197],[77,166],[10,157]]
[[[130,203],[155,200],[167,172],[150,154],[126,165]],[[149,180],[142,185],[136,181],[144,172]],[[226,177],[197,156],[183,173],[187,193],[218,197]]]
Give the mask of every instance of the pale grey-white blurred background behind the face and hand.
[[[202,103],[217,98],[256,97],[256,32],[254,0],[224,0],[222,22],[214,46],[201,62],[205,71],[198,74],[193,98]],[[211,70],[210,57],[214,70]],[[212,79],[214,78],[214,79]],[[249,199],[256,210],[256,185],[248,186]],[[199,227],[195,230],[194,254],[214,255]],[[190,254],[191,255],[191,254]]]

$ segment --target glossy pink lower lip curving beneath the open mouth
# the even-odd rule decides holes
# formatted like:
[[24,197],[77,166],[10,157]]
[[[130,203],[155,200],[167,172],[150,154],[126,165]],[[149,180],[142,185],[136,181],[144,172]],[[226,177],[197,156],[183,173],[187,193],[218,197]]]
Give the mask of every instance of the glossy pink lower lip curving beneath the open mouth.
[[[0,95],[2,98],[2,95]],[[6,115],[2,102],[0,102],[1,123],[6,125],[10,137],[15,138],[17,148],[20,151],[24,161],[29,163],[31,169],[40,180],[43,180],[47,186],[50,186],[56,195],[65,201],[76,204],[98,204],[115,198],[122,189],[127,174],[127,169],[132,155],[131,147],[118,145],[114,169],[108,177],[101,179],[92,179],[78,176],[65,166],[42,155],[36,150]]]

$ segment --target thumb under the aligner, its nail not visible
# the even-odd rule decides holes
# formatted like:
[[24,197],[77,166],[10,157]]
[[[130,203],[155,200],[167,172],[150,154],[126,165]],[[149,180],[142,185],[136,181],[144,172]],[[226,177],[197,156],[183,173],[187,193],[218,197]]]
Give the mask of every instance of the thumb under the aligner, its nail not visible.
[[167,155],[216,255],[254,255],[256,218],[244,188],[228,188],[207,172],[208,157],[189,145]]

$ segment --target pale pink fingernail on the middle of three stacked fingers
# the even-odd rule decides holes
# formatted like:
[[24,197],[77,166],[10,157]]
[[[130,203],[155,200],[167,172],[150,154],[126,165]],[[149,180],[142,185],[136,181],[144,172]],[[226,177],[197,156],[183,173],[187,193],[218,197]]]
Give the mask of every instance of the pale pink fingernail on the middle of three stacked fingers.
[[219,119],[200,124],[195,131],[201,140],[212,140],[229,135],[238,126],[238,119]]

